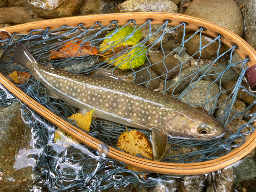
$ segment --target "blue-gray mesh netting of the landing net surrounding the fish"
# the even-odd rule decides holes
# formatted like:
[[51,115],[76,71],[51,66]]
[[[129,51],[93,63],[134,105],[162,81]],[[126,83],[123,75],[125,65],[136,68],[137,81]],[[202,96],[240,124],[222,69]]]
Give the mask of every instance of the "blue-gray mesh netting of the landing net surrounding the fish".
[[[205,68],[208,68],[208,70],[210,70],[212,66],[221,65],[221,62],[223,61],[226,61],[227,67],[225,67],[225,70],[221,72],[207,73],[208,70],[206,70],[204,73],[202,73],[203,69],[199,67],[201,53],[202,50],[204,50],[205,47],[209,46],[210,44],[203,46],[200,38],[199,49],[194,55],[185,54],[186,56],[184,56],[182,54],[183,56],[181,56],[182,49],[180,51],[177,50],[179,50],[180,48],[184,48],[186,42],[193,38],[194,35],[200,34],[201,36],[203,28],[196,31],[192,36],[186,37],[185,24],[181,24],[177,27],[170,27],[167,25],[168,21],[166,21],[166,23],[164,23],[162,26],[154,26],[151,25],[151,21],[148,20],[143,25],[136,25],[136,23],[131,20],[131,22],[127,23],[125,26],[129,24],[134,24],[130,25],[134,27],[134,32],[130,35],[127,35],[119,43],[125,42],[126,45],[126,40],[131,38],[137,30],[141,30],[144,31],[144,33],[147,33],[146,36],[144,36],[136,45],[137,47],[145,46],[147,49],[145,62],[148,62],[148,66],[145,68],[146,71],[144,69],[144,73],[149,71],[151,66],[157,64],[151,62],[152,60],[149,59],[150,55],[160,52],[163,53],[163,44],[166,41],[166,38],[174,40],[174,34],[178,34],[179,38],[181,39],[180,45],[178,46],[178,48],[174,48],[174,50],[164,52],[164,58],[168,57],[171,54],[174,54],[179,59],[180,65],[176,67],[179,68],[178,78],[180,77],[182,70],[184,70],[186,67],[189,67],[189,62],[191,59],[193,59],[193,56],[196,53],[199,54],[199,59],[196,62],[196,65],[198,66],[198,71],[190,74],[188,77],[183,77],[184,79],[192,79],[190,84],[187,86],[186,89],[183,89],[181,93],[173,94],[174,91],[172,91],[171,93],[169,93],[169,95],[181,100],[183,98],[184,102],[188,102],[189,104],[195,105],[196,107],[202,106],[210,114],[214,114],[218,110],[218,108],[221,108],[223,112],[219,116],[218,120],[220,120],[224,124],[224,126],[226,126],[230,121],[235,118],[241,118],[244,116],[245,119],[247,117],[248,114],[246,112],[248,112],[247,110],[250,110],[252,108],[253,103],[246,103],[246,109],[241,112],[232,111],[232,106],[237,100],[236,97],[239,88],[246,90],[245,87],[241,86],[241,83],[246,71],[245,65],[247,59],[233,63],[232,57],[235,47],[227,49],[224,53],[220,52],[223,45],[220,43],[220,36],[216,37],[212,42],[210,42],[210,44],[217,42],[219,45],[219,49],[216,52],[214,58],[208,59],[209,62]],[[182,29],[181,31],[183,32],[177,33],[177,31],[180,31],[179,29]],[[90,45],[92,47],[96,47],[99,50],[99,46],[101,45],[102,41],[106,38],[109,38],[105,35],[113,30],[115,30],[113,34],[116,34],[116,32],[121,30],[120,26],[118,26],[116,22],[113,22],[106,27],[102,26],[100,23],[96,23],[90,28],[85,28],[82,24],[80,24],[76,28],[62,26],[61,28],[53,31],[50,31],[50,29],[38,29],[32,30],[29,34],[13,34],[10,39],[2,41],[0,40],[0,42],[4,42],[1,47],[4,49],[4,52],[2,54],[2,57],[0,58],[0,71],[5,75],[8,75],[15,70],[19,72],[29,72],[28,69],[12,61],[15,45],[17,45],[18,42],[23,42],[29,52],[37,59],[39,63],[45,64],[46,62],[51,62],[54,68],[82,75],[91,75],[92,72],[95,72],[96,70],[101,68],[116,75],[122,74],[120,76],[122,79],[130,79],[131,83],[137,84],[138,86],[144,85],[149,88],[150,82],[155,79],[159,79],[159,76],[154,78],[151,78],[150,76],[150,78],[146,81],[140,82],[138,81],[138,75],[136,74],[142,71],[142,68],[130,69],[123,72],[115,67],[113,65],[113,62],[108,63],[110,59],[100,61],[100,55],[49,59],[51,51],[59,49],[59,45],[63,45],[63,42],[68,42],[74,39],[82,40],[83,44],[86,42],[90,42]],[[113,42],[111,42],[110,44],[112,43]],[[110,46],[108,50],[113,50],[113,47],[114,46]],[[121,54],[124,54],[125,51],[127,53],[129,49],[130,47],[126,45],[124,51],[113,54],[111,59],[113,60],[115,58],[118,58]],[[175,50],[178,53],[175,53]],[[141,54],[143,54],[142,51],[138,52],[137,56]],[[136,57],[129,57],[122,63],[130,62],[131,65],[131,59],[134,58]],[[227,61],[228,59],[230,59],[230,61]],[[118,59],[116,59],[116,62],[117,61]],[[122,65],[122,63],[119,63],[119,66]],[[225,73],[232,66],[239,64],[242,65],[242,73],[237,79],[234,91],[231,95],[227,96],[225,102],[223,102],[222,104],[218,104],[218,98],[221,94],[225,94],[226,92],[226,90],[222,88],[222,79],[224,78]],[[164,69],[166,69],[166,73],[160,75],[163,78],[160,80],[159,88],[155,90],[160,92],[159,94],[166,94],[166,91],[168,92],[168,90],[172,88],[167,86],[170,79],[167,79],[166,76],[167,68],[165,67]],[[175,69],[170,69],[169,71],[172,70]],[[196,76],[198,76],[199,74],[200,77],[196,78]],[[215,76],[215,79],[212,79],[212,81],[206,85],[203,84],[202,86],[199,86],[207,88],[206,93],[204,94],[204,97],[206,97],[206,99],[202,101],[200,100],[200,98],[198,98],[199,102],[194,102],[195,99],[190,100],[190,96],[194,93],[193,90],[198,89],[196,83],[198,83],[200,80],[202,81],[202,79],[209,75]],[[174,84],[173,88],[179,86],[181,80],[182,79],[179,78],[177,83]],[[217,87],[216,94],[213,96],[209,93],[212,86]],[[38,103],[46,106],[46,108],[64,119],[67,119],[67,117],[70,117],[72,114],[75,113],[76,109],[74,109],[68,103],[65,103],[59,99],[50,98],[46,94],[46,89],[41,86],[40,82],[33,77],[30,78],[26,83],[19,84],[18,87],[22,89],[26,94],[31,96],[33,99],[35,99]],[[7,94],[7,91],[4,88],[0,89],[0,94],[1,106],[8,106],[12,102],[17,102],[17,98],[15,96],[13,96],[13,98],[8,96],[9,94]],[[248,94],[254,96],[249,92]],[[203,96],[198,95],[198,97]],[[207,104],[209,103],[211,103],[211,107],[208,109]],[[125,168],[125,165],[123,163],[117,162],[109,158],[101,158],[97,156],[96,151],[92,150],[87,146],[82,145],[81,147],[81,145],[72,144],[67,148],[64,147],[62,150],[56,150],[56,147],[54,147],[54,132],[57,127],[45,118],[35,113],[33,110],[29,109],[27,105],[23,104],[21,108],[24,120],[29,123],[29,126],[34,133],[34,137],[37,139],[37,142],[35,144],[36,147],[43,148],[43,151],[41,153],[34,154],[34,158],[37,159],[37,166],[33,167],[33,172],[37,175],[45,177],[45,186],[47,186],[50,191],[77,191],[78,189],[84,191],[103,190],[113,186],[117,189],[118,186],[128,185],[130,183],[146,187],[157,185],[157,180],[146,180],[145,178],[138,176],[142,173],[146,174],[148,172],[141,173],[128,170]],[[250,114],[252,118],[250,118],[249,121],[247,120],[248,122],[246,124],[241,125],[237,133],[230,133],[230,137],[228,137],[227,139],[219,139],[217,141],[189,141],[168,138],[168,143],[170,147],[169,151],[167,152],[168,157],[164,158],[162,161],[172,163],[193,163],[208,161],[226,155],[231,151],[232,148],[242,145],[245,140],[245,136],[254,131],[252,122],[255,115],[256,113]],[[247,131],[244,131],[242,133],[245,127]],[[132,127],[129,128],[129,130],[131,129]],[[126,131],[126,129],[123,125],[119,125],[102,119],[95,119],[92,121],[89,134],[110,146],[116,147],[118,137],[124,131]],[[151,132],[142,130],[140,131],[144,133],[148,138],[150,138]],[[242,138],[243,142],[234,142],[234,140],[237,138]],[[63,166],[64,163],[67,163],[68,165]],[[74,168],[75,165],[79,165],[79,168]],[[173,178],[167,175],[158,174],[152,174],[149,177],[160,178],[163,181],[168,181]]]

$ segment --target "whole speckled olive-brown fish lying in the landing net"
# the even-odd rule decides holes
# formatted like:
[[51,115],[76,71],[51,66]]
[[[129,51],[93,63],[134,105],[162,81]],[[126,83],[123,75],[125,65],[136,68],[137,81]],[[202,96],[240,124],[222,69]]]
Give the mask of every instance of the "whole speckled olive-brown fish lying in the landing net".
[[213,140],[224,135],[223,125],[212,116],[169,96],[137,87],[111,73],[82,76],[39,64],[23,44],[13,60],[40,79],[52,96],[94,116],[143,130],[152,130],[154,160],[161,160],[167,136]]

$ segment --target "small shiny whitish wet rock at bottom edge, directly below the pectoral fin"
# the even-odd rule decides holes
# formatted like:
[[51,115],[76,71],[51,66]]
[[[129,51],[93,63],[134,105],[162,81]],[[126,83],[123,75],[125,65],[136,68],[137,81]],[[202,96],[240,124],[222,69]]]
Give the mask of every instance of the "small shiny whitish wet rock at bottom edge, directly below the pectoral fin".
[[158,185],[151,187],[150,192],[175,191],[178,185],[179,185],[179,182],[176,179],[171,179],[169,181],[162,181]]

